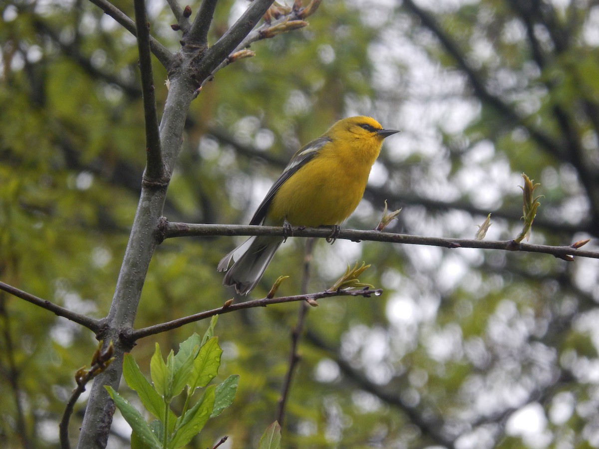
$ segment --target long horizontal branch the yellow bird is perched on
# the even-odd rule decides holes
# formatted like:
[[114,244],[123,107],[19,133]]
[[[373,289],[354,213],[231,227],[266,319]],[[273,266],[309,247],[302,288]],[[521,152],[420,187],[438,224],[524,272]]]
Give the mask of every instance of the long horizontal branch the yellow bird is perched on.
[[[328,237],[329,228],[294,227],[293,235],[296,237]],[[198,225],[192,223],[166,223],[164,225],[165,238],[215,236],[215,235],[272,235],[285,236],[283,227],[276,226],[250,226],[250,225]],[[362,240],[373,242],[402,243],[408,245],[429,245],[444,248],[480,248],[485,250],[524,251],[527,253],[552,254],[563,258],[568,256],[591,257],[599,259],[599,251],[588,251],[571,246],[534,245],[518,243],[513,240],[486,241],[466,238],[426,237],[421,235],[397,234],[380,232],[378,230],[341,229],[338,239],[359,242]]]

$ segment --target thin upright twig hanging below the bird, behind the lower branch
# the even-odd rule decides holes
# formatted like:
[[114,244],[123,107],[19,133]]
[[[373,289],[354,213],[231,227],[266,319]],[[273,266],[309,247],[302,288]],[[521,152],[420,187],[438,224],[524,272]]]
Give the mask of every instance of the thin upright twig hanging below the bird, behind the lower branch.
[[[300,292],[304,295],[308,290],[308,280],[310,279],[310,262],[312,260],[312,249],[314,248],[314,242],[316,239],[310,238],[305,242],[305,256],[304,256],[304,275],[302,277],[302,285]],[[283,429],[283,419],[285,418],[285,405],[289,397],[289,390],[291,389],[291,381],[294,376],[295,366],[299,362],[300,356],[298,354],[299,339],[304,330],[305,315],[308,313],[308,303],[303,301],[299,304],[298,310],[298,321],[295,324],[294,329],[291,332],[291,349],[289,351],[289,366],[285,374],[285,380],[283,381],[283,387],[281,389],[281,396],[279,398],[279,404],[277,407],[277,421],[279,426]]]

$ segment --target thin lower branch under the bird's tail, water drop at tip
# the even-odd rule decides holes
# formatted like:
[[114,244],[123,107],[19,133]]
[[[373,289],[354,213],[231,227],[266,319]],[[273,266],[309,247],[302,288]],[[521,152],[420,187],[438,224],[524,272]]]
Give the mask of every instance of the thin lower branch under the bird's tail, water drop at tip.
[[[329,234],[331,231],[329,230]],[[195,321],[205,320],[206,318],[213,317],[214,315],[223,315],[225,313],[234,312],[241,309],[250,309],[254,307],[267,307],[272,304],[282,304],[284,302],[295,302],[295,301],[316,301],[322,298],[333,298],[335,296],[363,296],[364,298],[370,298],[371,295],[380,296],[383,290],[337,290],[335,292],[318,292],[310,293],[308,295],[295,295],[295,296],[281,296],[280,298],[262,298],[254,299],[252,301],[239,302],[237,304],[225,303],[222,307],[207,310],[195,315],[189,315],[188,317],[178,318],[177,320],[168,321],[167,323],[156,324],[155,326],[143,327],[137,330],[131,330],[127,337],[131,341],[137,341],[140,338],[147,337],[149,335],[155,335],[156,333],[166,332],[167,330],[177,329],[178,327],[184,326],[184,324],[195,323]]]

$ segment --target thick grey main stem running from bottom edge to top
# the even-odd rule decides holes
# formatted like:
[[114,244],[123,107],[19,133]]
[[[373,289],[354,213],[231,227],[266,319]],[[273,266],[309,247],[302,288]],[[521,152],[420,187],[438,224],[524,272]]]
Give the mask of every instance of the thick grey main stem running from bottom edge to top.
[[167,180],[158,184],[142,184],[140,201],[131,227],[113,301],[105,320],[105,328],[97,336],[105,342],[114,343],[114,362],[94,379],[81,426],[78,442],[80,449],[104,448],[108,441],[114,403],[104,386],[108,385],[118,390],[123,369],[123,354],[130,351],[134,344],[131,339],[126,338],[126,335],[137,314],[150,260],[156,246],[162,241],[158,223],[167,195],[168,177],[173,172],[174,162],[181,149],[183,126],[195,90],[204,78],[229,56],[229,52],[235,48],[235,45],[252,30],[272,2],[273,0],[254,1],[240,20],[225,33],[227,38],[225,40],[223,40],[225,36],[221,38],[219,42],[222,43],[210,52],[208,59],[201,57],[201,49],[184,46],[177,57],[177,66],[169,67],[170,88],[159,126],[162,162]]

